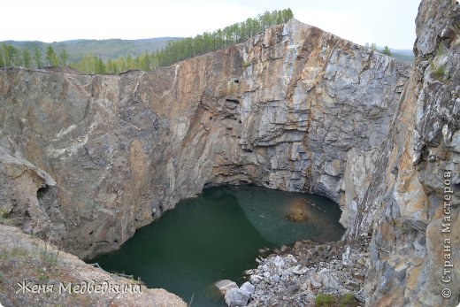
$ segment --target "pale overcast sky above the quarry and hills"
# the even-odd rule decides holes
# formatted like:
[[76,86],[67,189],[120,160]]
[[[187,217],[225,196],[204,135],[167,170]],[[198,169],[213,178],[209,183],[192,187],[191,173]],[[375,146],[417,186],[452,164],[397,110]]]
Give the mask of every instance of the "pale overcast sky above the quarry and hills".
[[190,36],[290,7],[295,18],[364,44],[412,49],[419,0],[13,0],[0,41]]

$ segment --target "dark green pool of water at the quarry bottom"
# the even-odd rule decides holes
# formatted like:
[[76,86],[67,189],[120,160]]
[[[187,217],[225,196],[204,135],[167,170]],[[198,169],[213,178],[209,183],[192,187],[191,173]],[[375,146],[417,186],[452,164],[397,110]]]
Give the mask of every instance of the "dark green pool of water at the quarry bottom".
[[[224,306],[213,283],[241,283],[258,249],[297,240],[336,241],[339,206],[321,196],[251,186],[208,188],[137,230],[119,250],[91,259],[106,271],[140,277],[192,306]],[[299,218],[292,220],[293,217]]]

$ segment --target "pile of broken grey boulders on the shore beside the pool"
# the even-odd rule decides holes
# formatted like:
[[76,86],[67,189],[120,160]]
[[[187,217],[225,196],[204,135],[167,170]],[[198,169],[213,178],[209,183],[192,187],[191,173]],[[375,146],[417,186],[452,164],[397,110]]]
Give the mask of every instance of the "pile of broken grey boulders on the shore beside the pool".
[[351,242],[295,242],[258,257],[259,265],[246,272],[249,281],[240,288],[231,280],[216,286],[229,306],[362,306],[370,241],[362,234]]

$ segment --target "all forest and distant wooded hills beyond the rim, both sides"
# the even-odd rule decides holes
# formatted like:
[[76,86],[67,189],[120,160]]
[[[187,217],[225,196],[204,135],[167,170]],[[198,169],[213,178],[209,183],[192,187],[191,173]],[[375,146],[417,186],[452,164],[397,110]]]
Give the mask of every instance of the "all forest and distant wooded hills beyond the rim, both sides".
[[[181,60],[226,48],[259,35],[267,27],[294,18],[290,9],[265,12],[256,18],[204,32],[195,37],[161,37],[143,40],[74,40],[43,42],[4,42],[0,46],[0,67],[72,67],[82,73],[122,73],[130,69],[151,71]],[[372,44],[372,50],[377,50]],[[369,47],[369,46],[368,46]],[[410,50],[380,50],[388,56],[411,62]]]

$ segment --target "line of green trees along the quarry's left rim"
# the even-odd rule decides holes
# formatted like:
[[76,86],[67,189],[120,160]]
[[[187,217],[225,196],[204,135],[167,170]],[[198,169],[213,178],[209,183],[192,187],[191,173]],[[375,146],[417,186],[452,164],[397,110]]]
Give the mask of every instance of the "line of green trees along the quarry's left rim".
[[249,18],[211,33],[204,32],[202,35],[169,42],[162,50],[151,53],[144,52],[135,58],[128,55],[127,57],[109,58],[107,61],[103,61],[100,56],[87,54],[80,60],[69,63],[69,56],[65,49],[57,53],[49,45],[43,58],[42,50],[37,47],[28,50],[27,48],[18,49],[12,45],[3,44],[0,48],[0,67],[70,66],[83,73],[121,73],[129,69],[149,71],[226,48],[238,42],[244,42],[250,37],[261,34],[267,27],[286,23],[292,18],[294,18],[294,14],[291,9],[265,12],[256,18]]

